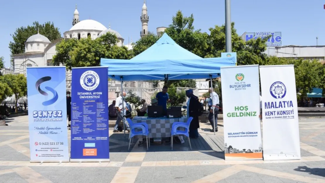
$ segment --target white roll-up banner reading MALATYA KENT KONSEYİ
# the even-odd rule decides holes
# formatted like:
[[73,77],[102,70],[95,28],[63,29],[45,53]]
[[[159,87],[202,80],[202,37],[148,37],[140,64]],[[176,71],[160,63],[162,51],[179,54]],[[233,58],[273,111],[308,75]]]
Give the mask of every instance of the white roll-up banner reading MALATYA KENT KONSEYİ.
[[260,66],[264,160],[299,160],[300,141],[293,65]]

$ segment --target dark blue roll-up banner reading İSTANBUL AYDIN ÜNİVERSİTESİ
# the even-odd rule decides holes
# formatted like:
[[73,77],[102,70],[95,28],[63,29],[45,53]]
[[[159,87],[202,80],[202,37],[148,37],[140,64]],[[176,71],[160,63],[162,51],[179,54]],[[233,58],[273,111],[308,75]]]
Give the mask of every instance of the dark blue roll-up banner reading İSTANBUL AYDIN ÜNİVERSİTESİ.
[[72,68],[71,160],[109,162],[108,67]]

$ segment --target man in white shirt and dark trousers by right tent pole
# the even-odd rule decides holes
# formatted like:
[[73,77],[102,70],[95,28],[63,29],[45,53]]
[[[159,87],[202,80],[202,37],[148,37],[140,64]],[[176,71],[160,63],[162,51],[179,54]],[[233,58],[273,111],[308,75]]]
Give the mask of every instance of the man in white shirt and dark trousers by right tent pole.
[[[219,96],[217,93],[215,93],[213,91],[212,88],[209,88],[209,92],[210,92],[210,98],[209,98],[208,106],[209,106],[210,112],[209,112],[208,119],[212,126],[212,129],[210,130],[210,132],[214,132],[214,131],[217,132],[218,131],[217,123],[218,123],[218,112],[219,112]],[[214,118],[215,126],[213,123],[213,118]]]

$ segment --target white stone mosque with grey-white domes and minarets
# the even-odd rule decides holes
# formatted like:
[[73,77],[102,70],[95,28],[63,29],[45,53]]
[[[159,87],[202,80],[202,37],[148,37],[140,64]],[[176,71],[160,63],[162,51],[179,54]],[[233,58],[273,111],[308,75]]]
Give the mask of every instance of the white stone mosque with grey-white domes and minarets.
[[[149,33],[148,32],[149,15],[148,15],[148,9],[145,0],[143,2],[140,20],[142,24],[140,36],[144,37]],[[165,29],[164,27],[157,28],[157,34],[163,32],[164,29]],[[63,39],[70,39],[70,38],[81,39],[81,38],[87,38],[89,36],[91,37],[91,39],[96,39],[108,32],[114,33],[117,36],[117,39],[119,40],[119,42],[117,43],[118,46],[126,46],[128,49],[133,48],[131,44],[124,45],[124,38],[122,37],[122,35],[117,31],[111,29],[110,25],[109,28],[107,29],[103,24],[99,23],[96,20],[80,20],[79,12],[76,6],[73,12],[72,28],[69,31],[63,33],[63,38],[50,42],[47,37],[45,37],[40,33],[37,33],[35,35],[32,35],[26,40],[25,53],[13,55],[14,73],[26,74],[26,68],[31,66],[38,66],[38,67],[51,66],[52,58],[56,54],[55,47]]]

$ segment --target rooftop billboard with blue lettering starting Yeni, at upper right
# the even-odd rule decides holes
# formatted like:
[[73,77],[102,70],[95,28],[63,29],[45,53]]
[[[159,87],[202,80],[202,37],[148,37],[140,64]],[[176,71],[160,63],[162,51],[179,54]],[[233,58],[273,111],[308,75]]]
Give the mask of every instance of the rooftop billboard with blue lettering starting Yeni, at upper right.
[[271,37],[267,40],[267,47],[275,47],[282,45],[282,35],[281,32],[259,32],[259,33],[245,33],[245,41],[250,39],[264,38],[268,35]]

